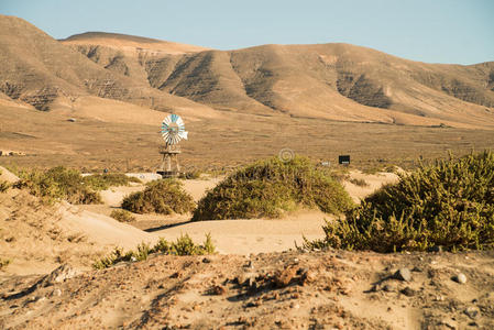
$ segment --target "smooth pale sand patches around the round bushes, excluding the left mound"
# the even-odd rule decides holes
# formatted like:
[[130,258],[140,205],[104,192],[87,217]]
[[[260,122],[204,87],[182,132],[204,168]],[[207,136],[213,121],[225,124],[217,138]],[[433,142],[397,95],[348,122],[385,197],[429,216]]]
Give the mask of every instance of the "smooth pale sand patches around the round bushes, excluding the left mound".
[[[360,202],[383,184],[392,183],[397,176],[392,173],[363,174],[358,170],[349,173],[349,179],[363,179],[367,186],[358,186],[348,180],[344,187],[355,202]],[[208,179],[183,180],[184,189],[198,201],[207,191],[213,188],[222,177]],[[111,210],[121,205],[122,199],[133,191],[142,190],[142,185],[132,187],[112,187],[101,193],[105,206],[80,206],[109,216]],[[330,217],[316,210],[300,210],[285,216],[283,219],[249,219],[249,220],[213,220],[188,222],[190,215],[135,215],[138,221],[131,224],[150,231],[152,235],[176,240],[183,234],[190,235],[195,241],[204,241],[210,233],[219,253],[250,254],[262,252],[286,251],[303,243],[303,237],[314,240],[323,237],[321,227]]]

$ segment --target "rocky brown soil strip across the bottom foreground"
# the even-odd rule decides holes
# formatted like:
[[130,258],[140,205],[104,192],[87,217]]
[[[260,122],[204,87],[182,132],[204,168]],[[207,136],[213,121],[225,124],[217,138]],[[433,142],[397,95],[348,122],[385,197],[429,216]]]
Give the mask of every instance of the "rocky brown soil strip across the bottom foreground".
[[6,329],[493,329],[494,253],[166,256],[13,276]]

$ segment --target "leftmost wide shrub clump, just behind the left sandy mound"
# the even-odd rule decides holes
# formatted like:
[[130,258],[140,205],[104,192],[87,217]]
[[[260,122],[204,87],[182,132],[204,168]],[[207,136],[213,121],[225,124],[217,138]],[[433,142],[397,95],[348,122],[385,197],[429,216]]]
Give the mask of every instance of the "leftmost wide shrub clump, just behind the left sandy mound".
[[58,199],[66,199],[72,204],[101,202],[99,194],[85,185],[83,176],[75,169],[58,166],[46,172],[21,172],[20,178],[14,187],[28,188],[45,202]]

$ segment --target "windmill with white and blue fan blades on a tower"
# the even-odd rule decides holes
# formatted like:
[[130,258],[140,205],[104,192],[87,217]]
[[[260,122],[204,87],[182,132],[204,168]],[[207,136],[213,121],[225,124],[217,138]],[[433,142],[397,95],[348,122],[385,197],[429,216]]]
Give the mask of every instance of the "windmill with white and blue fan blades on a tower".
[[[163,177],[178,176],[180,172],[180,165],[178,164],[180,148],[178,147],[178,142],[182,139],[187,140],[187,132],[182,118],[175,113],[168,114],[162,122],[161,134],[163,140],[165,140],[165,145],[160,147],[163,161],[157,173]],[[175,168],[172,167],[172,163],[175,163]]]

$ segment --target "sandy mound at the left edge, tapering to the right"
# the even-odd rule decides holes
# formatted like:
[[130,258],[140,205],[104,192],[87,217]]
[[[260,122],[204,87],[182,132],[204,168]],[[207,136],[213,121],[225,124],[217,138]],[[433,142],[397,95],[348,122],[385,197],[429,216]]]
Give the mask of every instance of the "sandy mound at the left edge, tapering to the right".
[[66,202],[45,206],[19,189],[0,194],[0,257],[11,261],[0,274],[46,273],[62,263],[87,270],[116,245],[155,241],[112,218]]

